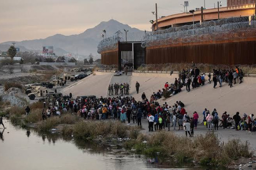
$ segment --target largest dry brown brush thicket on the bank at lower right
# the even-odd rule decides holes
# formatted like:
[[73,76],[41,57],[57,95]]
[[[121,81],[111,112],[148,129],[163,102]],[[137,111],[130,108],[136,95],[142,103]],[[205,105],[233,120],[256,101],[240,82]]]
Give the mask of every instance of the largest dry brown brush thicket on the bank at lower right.
[[[147,142],[143,142],[147,141]],[[248,142],[231,139],[221,142],[216,134],[208,132],[194,138],[186,138],[170,132],[158,132],[152,135],[138,135],[136,140],[126,141],[126,149],[135,149],[136,153],[173,158],[178,163],[196,160],[201,165],[212,164],[227,166],[241,157],[252,156]]]

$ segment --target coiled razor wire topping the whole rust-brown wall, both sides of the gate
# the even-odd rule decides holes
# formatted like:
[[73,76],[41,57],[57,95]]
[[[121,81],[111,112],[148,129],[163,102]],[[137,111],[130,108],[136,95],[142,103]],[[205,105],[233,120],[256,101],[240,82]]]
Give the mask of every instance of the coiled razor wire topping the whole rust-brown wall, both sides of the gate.
[[[227,40],[256,37],[256,20],[252,17],[224,18],[203,23],[184,25],[151,32],[127,32],[127,41],[143,41],[141,47],[168,44],[201,42],[209,40]],[[98,44],[98,53],[118,48],[118,42],[125,42],[126,34],[118,32]]]

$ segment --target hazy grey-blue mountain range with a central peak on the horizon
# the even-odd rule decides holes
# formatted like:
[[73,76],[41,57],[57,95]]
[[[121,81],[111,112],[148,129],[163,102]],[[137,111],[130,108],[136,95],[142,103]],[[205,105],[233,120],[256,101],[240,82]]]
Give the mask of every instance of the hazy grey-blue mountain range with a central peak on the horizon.
[[[54,46],[55,54],[63,55],[67,53],[78,53],[79,55],[88,56],[90,53],[97,54],[97,46],[99,41],[102,40],[102,30],[106,30],[106,36],[113,36],[118,30],[124,33],[124,29],[129,30],[128,35],[143,34],[137,28],[131,28],[129,25],[125,25],[113,19],[107,22],[101,22],[94,28],[85,30],[85,32],[78,35],[64,36],[56,34],[45,39],[36,40],[24,40],[16,42],[15,47],[20,47],[21,51],[42,51],[42,46]],[[129,36],[127,36],[129,37]],[[4,42],[0,44],[0,50],[6,51],[11,45],[12,41]]]

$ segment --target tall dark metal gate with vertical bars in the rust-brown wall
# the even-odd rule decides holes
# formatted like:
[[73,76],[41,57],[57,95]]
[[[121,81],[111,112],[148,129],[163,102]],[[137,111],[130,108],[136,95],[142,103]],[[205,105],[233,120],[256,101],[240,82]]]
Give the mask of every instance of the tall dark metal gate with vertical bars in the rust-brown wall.
[[119,70],[124,71],[128,67],[128,71],[132,72],[141,64],[145,63],[145,49],[141,47],[141,43],[127,42],[119,43]]

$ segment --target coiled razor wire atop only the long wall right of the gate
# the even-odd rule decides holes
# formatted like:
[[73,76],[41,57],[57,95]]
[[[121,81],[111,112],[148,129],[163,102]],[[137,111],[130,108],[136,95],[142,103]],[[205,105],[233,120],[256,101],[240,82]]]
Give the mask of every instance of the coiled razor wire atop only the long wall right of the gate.
[[[243,22],[237,22],[243,21]],[[203,27],[203,26],[206,27]],[[174,32],[173,30],[178,30]],[[158,30],[153,35],[148,35],[141,44],[143,48],[158,45],[201,42],[209,40],[227,40],[247,37],[256,37],[256,21],[245,17],[226,18],[218,21],[208,21],[201,25],[181,26],[166,30]]]

